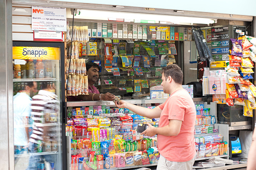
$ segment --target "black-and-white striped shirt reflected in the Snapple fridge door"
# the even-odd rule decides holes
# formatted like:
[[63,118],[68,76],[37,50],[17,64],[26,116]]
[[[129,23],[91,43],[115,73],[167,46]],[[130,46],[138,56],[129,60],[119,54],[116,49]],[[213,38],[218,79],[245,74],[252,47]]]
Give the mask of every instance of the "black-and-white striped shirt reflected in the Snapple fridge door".
[[58,102],[57,96],[46,90],[40,90],[37,95],[32,97],[31,116],[34,125],[30,142],[38,143],[38,140],[43,140],[45,113],[57,113]]

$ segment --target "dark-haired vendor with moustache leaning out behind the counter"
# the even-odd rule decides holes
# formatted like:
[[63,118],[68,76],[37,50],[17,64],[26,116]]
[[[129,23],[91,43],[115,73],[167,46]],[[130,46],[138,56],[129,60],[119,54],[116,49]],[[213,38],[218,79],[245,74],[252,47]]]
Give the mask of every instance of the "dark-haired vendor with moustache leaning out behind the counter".
[[86,63],[87,75],[88,75],[88,89],[89,95],[78,95],[78,96],[68,96],[67,101],[83,101],[83,100],[114,100],[115,95],[111,93],[101,93],[94,86],[99,78],[100,66],[96,63],[89,61]]

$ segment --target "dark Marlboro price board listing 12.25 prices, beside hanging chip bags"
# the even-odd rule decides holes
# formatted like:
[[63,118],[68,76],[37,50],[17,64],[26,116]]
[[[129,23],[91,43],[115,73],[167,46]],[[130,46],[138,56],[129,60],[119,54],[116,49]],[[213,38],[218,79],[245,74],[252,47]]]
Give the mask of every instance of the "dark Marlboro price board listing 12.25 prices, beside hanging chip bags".
[[229,60],[229,28],[211,28],[211,52],[215,61]]

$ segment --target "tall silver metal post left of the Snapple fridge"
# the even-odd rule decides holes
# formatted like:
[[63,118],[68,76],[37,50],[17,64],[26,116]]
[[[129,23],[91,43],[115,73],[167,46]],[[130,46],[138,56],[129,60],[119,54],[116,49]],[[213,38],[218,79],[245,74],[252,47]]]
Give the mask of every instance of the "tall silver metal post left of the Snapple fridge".
[[0,169],[14,169],[12,1],[0,0]]

